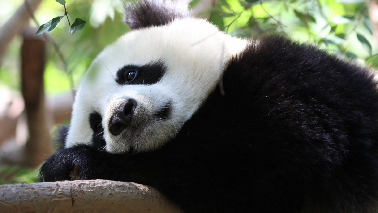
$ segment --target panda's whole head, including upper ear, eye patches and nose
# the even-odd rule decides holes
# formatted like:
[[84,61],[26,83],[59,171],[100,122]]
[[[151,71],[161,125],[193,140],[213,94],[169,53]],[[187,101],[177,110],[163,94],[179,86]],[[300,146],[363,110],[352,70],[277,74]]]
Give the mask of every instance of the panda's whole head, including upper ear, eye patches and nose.
[[132,30],[93,61],[77,91],[66,147],[158,149],[180,131],[246,45],[170,1],[126,6]]

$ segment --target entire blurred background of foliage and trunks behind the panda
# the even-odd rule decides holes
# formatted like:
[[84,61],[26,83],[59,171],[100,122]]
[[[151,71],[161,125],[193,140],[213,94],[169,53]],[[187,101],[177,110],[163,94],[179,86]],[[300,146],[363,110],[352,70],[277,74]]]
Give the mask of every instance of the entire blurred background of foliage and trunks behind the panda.
[[[361,66],[378,65],[376,0],[180,0],[195,16],[233,36],[284,33]],[[0,1],[0,184],[37,181],[39,165],[69,124],[76,88],[96,55],[129,31],[121,0],[67,0],[51,32],[38,27],[65,14],[55,0]]]

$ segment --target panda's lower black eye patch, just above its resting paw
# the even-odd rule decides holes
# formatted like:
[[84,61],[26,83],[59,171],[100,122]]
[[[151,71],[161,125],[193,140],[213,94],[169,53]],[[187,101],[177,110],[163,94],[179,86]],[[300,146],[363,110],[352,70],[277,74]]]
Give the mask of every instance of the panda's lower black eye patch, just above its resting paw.
[[92,142],[93,148],[95,149],[104,149],[105,147],[105,139],[104,139],[104,127],[102,127],[102,117],[99,113],[91,113],[89,114],[89,125],[93,130],[92,135]]

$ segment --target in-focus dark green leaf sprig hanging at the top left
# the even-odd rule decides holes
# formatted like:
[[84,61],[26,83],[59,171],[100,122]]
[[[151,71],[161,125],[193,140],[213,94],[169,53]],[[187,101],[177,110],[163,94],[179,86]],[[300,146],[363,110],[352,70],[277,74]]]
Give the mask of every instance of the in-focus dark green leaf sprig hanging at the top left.
[[51,30],[53,30],[56,27],[56,25],[60,22],[60,20],[62,20],[62,18],[64,16],[67,16],[68,26],[70,27],[70,29],[68,31],[70,31],[71,34],[74,34],[77,30],[81,30],[82,28],[84,28],[87,21],[83,20],[81,18],[76,18],[75,21],[71,25],[70,20],[68,19],[68,12],[67,12],[67,9],[66,9],[66,1],[65,0],[55,0],[55,1],[60,3],[61,5],[64,5],[64,15],[63,16],[57,16],[57,17],[51,19],[50,21],[48,21],[47,23],[42,24],[39,27],[39,29],[37,30],[37,33],[34,34],[34,36],[40,35],[40,34],[45,33],[45,32],[50,32]]

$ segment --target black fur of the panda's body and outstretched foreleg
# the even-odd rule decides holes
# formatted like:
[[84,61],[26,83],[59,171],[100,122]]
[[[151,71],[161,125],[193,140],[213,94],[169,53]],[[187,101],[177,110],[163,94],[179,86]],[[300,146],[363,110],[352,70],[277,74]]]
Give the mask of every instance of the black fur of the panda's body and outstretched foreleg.
[[308,45],[264,36],[159,150],[61,150],[45,181],[109,179],[156,187],[185,212],[378,211],[378,94],[372,74]]

